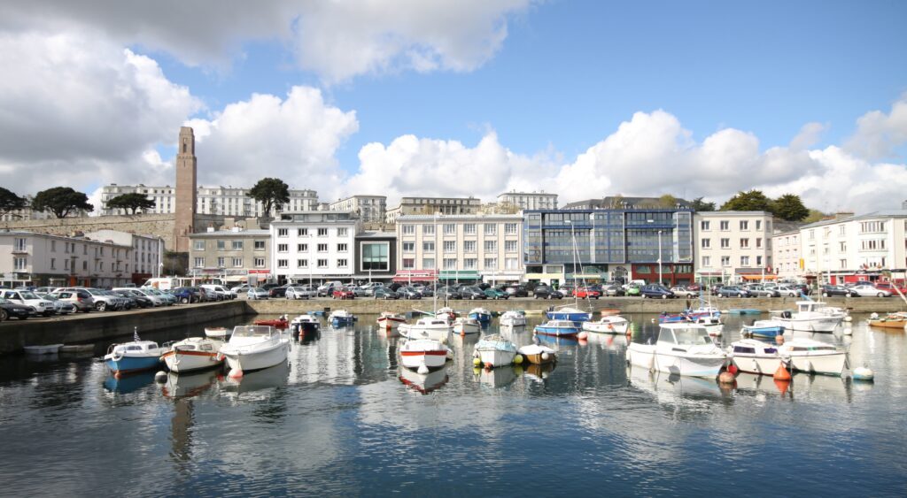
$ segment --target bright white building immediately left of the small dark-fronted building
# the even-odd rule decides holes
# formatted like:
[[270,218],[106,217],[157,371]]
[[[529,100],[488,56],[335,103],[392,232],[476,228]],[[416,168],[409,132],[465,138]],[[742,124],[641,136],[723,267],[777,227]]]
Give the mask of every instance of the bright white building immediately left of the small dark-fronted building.
[[340,280],[356,273],[361,223],[343,211],[284,213],[270,225],[272,273],[280,282]]

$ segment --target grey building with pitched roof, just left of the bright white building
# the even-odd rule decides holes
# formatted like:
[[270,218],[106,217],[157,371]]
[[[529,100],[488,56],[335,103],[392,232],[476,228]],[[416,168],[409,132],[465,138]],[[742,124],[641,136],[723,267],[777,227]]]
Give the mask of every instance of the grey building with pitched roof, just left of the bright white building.
[[189,235],[189,273],[194,277],[221,278],[229,283],[263,282],[273,275],[271,233],[234,226]]

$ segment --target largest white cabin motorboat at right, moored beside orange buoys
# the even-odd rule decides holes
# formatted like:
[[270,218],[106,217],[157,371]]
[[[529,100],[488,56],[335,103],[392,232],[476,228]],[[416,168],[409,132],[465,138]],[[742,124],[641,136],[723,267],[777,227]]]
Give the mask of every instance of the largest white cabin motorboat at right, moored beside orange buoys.
[[715,377],[726,360],[706,328],[694,323],[662,323],[655,344],[627,348],[630,365],[689,377]]

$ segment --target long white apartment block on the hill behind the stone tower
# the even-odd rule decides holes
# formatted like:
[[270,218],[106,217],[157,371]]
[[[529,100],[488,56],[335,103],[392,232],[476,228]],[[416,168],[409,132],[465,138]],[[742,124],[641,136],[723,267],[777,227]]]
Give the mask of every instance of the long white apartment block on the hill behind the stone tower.
[[[108,209],[107,201],[123,194],[144,194],[155,202],[153,214],[172,214],[176,212],[176,188],[171,186],[147,187],[144,185],[127,186],[111,184],[101,191],[102,215],[125,215],[125,209]],[[224,216],[262,216],[264,206],[249,196],[249,188],[240,187],[198,187],[198,204],[196,212],[200,215]],[[315,190],[291,189],[289,202],[281,211],[307,211],[316,209],[318,195]]]

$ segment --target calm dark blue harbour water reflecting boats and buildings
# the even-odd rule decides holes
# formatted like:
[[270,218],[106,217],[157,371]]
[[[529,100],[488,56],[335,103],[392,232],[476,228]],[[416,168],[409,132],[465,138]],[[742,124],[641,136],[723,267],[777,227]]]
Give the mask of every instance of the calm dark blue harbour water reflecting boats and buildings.
[[[631,318],[634,340],[654,333],[651,316]],[[492,372],[473,370],[477,339],[457,337],[426,378],[398,367],[400,342],[374,316],[239,383],[116,380],[97,354],[0,358],[0,483],[6,496],[903,496],[907,339],[864,318],[822,339],[874,383],[798,374],[785,391],[746,374],[721,388],[628,370],[627,341],[597,335],[552,343],[554,369]],[[726,321],[727,344],[740,319]]]

